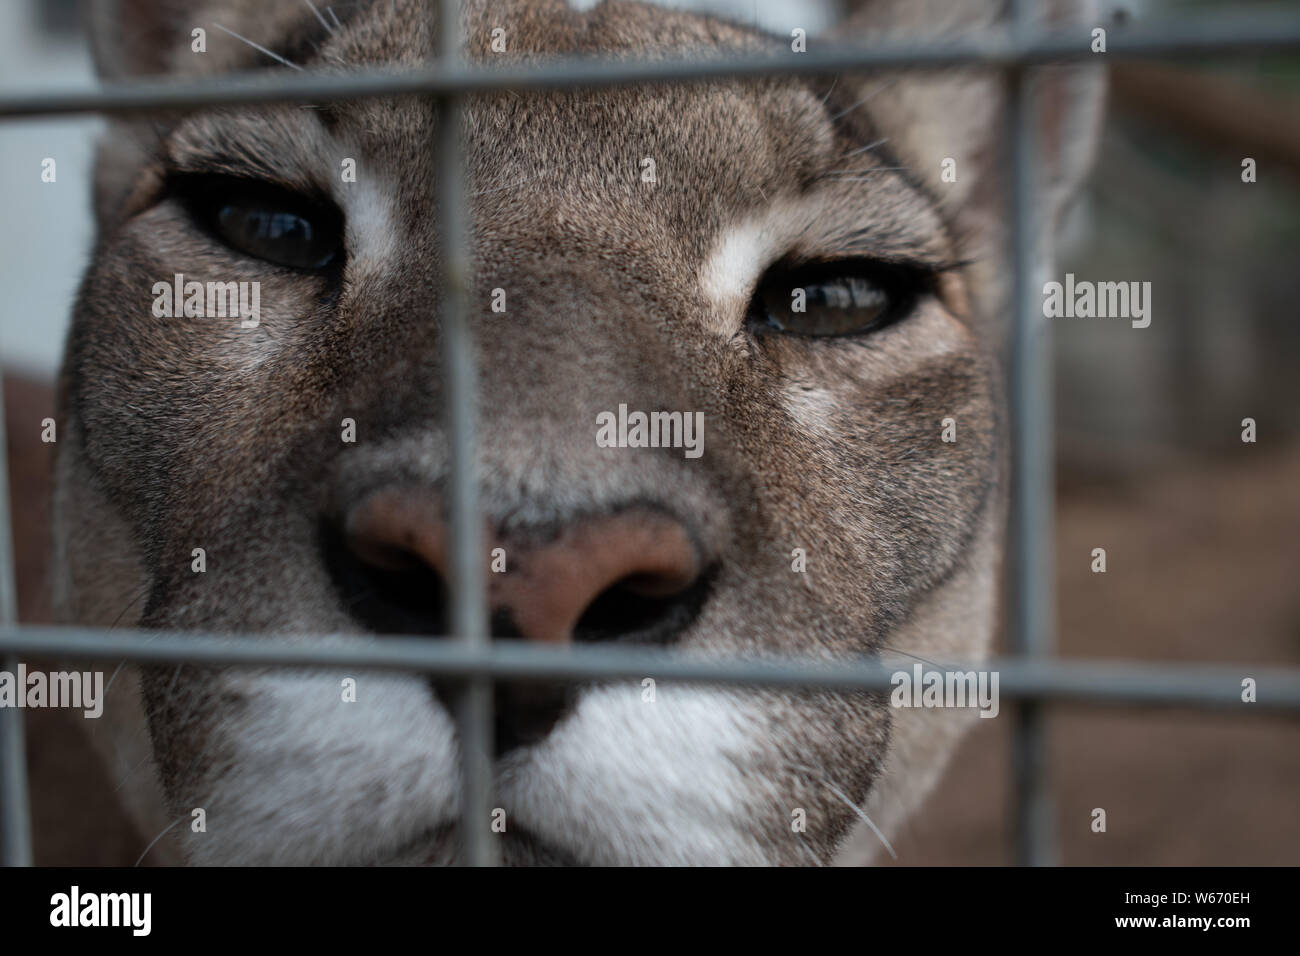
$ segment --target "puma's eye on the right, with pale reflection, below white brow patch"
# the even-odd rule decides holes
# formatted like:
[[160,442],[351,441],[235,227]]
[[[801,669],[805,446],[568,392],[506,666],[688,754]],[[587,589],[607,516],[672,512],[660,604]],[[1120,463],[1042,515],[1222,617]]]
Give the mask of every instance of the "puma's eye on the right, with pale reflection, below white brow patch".
[[779,265],[759,281],[746,321],[758,333],[864,336],[906,319],[932,289],[933,274],[909,264]]

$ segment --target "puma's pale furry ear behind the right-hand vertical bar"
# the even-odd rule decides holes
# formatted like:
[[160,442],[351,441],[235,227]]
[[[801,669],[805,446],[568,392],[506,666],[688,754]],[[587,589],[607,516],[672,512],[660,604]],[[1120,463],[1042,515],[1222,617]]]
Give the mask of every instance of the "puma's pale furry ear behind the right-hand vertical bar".
[[[867,46],[950,42],[1005,23],[1002,0],[858,0],[838,35]],[[1030,4],[1034,26],[1096,26],[1091,0]],[[864,82],[880,135],[920,179],[967,239],[1000,243],[1010,143],[1006,87],[994,69],[872,75]],[[1037,189],[1046,242],[1086,178],[1096,150],[1105,72],[1096,64],[1043,66],[1034,83]],[[950,161],[949,161],[950,160]]]

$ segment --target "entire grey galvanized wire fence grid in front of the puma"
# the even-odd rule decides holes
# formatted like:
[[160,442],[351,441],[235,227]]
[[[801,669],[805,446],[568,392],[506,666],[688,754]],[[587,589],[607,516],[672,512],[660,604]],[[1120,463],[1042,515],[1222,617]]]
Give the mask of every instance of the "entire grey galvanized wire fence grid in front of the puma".
[[[491,819],[493,685],[498,680],[586,682],[597,679],[680,680],[832,691],[888,691],[893,667],[879,662],[828,663],[812,659],[714,661],[671,649],[575,646],[564,650],[493,643],[488,630],[478,497],[473,475],[477,441],[477,371],[468,323],[468,207],[462,143],[464,98],[502,90],[562,90],[640,83],[689,83],[780,74],[833,75],[846,72],[932,70],[950,66],[1000,69],[1008,82],[1010,139],[1009,222],[1014,272],[1010,342],[1011,600],[1010,646],[1015,657],[982,662],[1000,674],[1000,692],[1020,701],[1015,743],[1017,858],[1056,861],[1053,810],[1045,773],[1043,706],[1046,702],[1190,706],[1231,713],[1300,711],[1300,669],[1191,667],[1136,662],[1063,661],[1053,645],[1053,470],[1052,365],[1049,329],[1039,317],[1032,285],[1035,256],[1035,112],[1032,68],[1046,62],[1115,57],[1201,57],[1300,51],[1300,17],[1265,20],[1232,16],[1112,31],[1104,55],[1093,53],[1091,30],[1040,31],[1030,0],[1013,3],[1005,30],[939,46],[907,43],[835,48],[779,56],[707,61],[555,60],[484,68],[462,61],[456,29],[441,33],[437,62],[403,73],[350,75],[235,75],[117,85],[84,92],[0,92],[0,120],[72,113],[125,116],[174,108],[264,103],[333,103],[376,96],[428,96],[439,105],[434,152],[443,298],[436,320],[442,330],[446,425],[452,450],[450,475],[452,632],[456,640],[410,637],[368,646],[311,646],[285,639],[166,633],[157,631],[21,627],[17,624],[9,522],[3,399],[0,399],[0,669],[13,671],[20,656],[192,663],[207,666],[328,666],[408,670],[454,682],[462,741],[462,831],[464,860],[497,861]],[[459,0],[441,0],[439,23],[458,25]],[[434,319],[434,317],[430,317]],[[1258,700],[1242,704],[1242,679],[1257,682]],[[0,708],[0,849],[6,865],[30,865],[31,826],[22,711]]]

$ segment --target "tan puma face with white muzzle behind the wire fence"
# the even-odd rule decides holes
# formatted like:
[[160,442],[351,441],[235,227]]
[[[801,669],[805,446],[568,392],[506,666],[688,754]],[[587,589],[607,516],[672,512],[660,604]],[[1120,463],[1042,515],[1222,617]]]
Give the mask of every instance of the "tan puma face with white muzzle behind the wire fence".
[[[789,43],[636,3],[465,8],[465,56],[489,65]],[[867,3],[837,38],[983,29],[997,8]],[[416,0],[335,5],[337,23],[298,0],[99,13],[112,78],[413,68],[437,48]],[[1045,222],[1088,152],[1095,85],[1076,79],[1044,82]],[[841,75],[467,101],[495,637],[984,653],[1005,476],[1000,88]],[[109,131],[61,382],[65,620],[447,632],[437,122],[391,99]],[[257,321],[159,308],[178,274],[256,284]],[[638,412],[659,447],[636,440]],[[625,427],[602,440],[610,416]],[[207,812],[179,842],[192,862],[458,858],[437,682],[182,666],[113,693],[110,758],[142,827]],[[896,826],[970,723],[881,695],[662,683],[647,701],[640,682],[506,685],[495,706],[507,862],[829,862],[863,813]]]

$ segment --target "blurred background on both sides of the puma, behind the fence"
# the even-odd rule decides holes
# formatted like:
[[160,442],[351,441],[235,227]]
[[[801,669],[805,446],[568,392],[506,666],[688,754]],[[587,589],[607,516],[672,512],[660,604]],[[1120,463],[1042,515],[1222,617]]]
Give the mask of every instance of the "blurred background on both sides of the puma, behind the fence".
[[[961,0],[954,0],[961,1]],[[577,3],[575,5],[592,5]],[[670,5],[670,4],[666,4]],[[684,0],[781,33],[836,4]],[[1112,30],[1300,17],[1300,0],[1108,3]],[[0,4],[0,83],[91,81],[77,0]],[[1114,20],[1118,18],[1118,20]],[[0,124],[0,229],[20,614],[47,622],[49,450],[40,419],[92,242],[98,120]],[[57,182],[40,163],[57,160]],[[1242,161],[1256,160],[1256,182]],[[1153,320],[1056,320],[1060,654],[1300,665],[1300,57],[1114,64],[1097,172],[1057,277],[1149,281]],[[1242,419],[1258,437],[1242,441]],[[1092,549],[1105,548],[1106,574]],[[1004,713],[1010,713],[1009,709]],[[1066,864],[1300,864],[1300,718],[1049,709]],[[38,864],[133,864],[78,718],[29,710]],[[893,844],[898,864],[1009,864],[1010,721],[976,721]],[[1108,831],[1089,829],[1105,808]],[[888,860],[887,860],[888,862]]]

